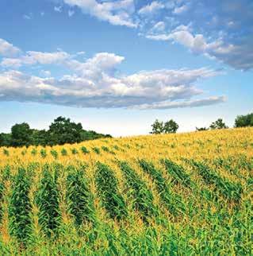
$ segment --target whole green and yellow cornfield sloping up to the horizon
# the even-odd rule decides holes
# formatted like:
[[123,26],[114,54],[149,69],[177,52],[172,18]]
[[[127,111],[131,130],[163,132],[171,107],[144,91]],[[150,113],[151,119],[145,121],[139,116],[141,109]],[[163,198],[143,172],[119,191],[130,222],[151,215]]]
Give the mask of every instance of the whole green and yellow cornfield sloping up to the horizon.
[[253,129],[0,148],[2,254],[252,254]]

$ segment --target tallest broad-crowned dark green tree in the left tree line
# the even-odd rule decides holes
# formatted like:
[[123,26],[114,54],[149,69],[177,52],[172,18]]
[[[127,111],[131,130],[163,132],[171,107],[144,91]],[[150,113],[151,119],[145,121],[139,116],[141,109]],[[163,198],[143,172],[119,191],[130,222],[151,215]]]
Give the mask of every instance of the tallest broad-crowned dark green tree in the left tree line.
[[70,118],[59,117],[49,126],[51,145],[81,142],[82,124],[71,122]]

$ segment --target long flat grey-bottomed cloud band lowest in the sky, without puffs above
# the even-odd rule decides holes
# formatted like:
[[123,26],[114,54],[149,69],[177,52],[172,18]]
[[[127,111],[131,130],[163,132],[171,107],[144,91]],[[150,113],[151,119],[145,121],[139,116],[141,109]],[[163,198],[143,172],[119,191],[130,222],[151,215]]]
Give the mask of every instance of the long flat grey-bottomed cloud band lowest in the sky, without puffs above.
[[[5,101],[52,103],[71,107],[165,109],[178,106],[178,99],[191,99],[195,95],[201,95],[202,91],[194,87],[193,83],[213,75],[213,71],[204,69],[161,70],[122,77],[102,72],[98,77],[86,74],[63,76],[56,80],[8,71],[0,74],[0,94],[1,100]],[[220,102],[218,99],[220,98],[217,98],[216,103]],[[209,102],[204,99],[181,103],[180,107],[200,107],[214,102],[214,98]]]

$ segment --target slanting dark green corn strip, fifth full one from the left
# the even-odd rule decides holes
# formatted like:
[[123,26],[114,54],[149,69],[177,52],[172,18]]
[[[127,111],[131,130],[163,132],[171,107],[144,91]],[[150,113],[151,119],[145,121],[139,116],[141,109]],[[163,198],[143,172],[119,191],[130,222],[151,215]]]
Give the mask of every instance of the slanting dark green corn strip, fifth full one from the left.
[[140,211],[142,219],[148,221],[148,217],[157,214],[153,204],[153,195],[140,176],[125,161],[119,162],[120,168],[125,176],[125,184],[134,199],[133,207]]

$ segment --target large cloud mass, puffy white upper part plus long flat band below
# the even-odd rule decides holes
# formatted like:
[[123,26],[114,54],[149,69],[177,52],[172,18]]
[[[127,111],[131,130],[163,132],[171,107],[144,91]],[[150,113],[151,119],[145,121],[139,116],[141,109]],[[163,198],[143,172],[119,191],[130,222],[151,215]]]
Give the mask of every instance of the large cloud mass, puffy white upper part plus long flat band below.
[[[13,47],[13,45],[12,45]],[[98,52],[85,61],[67,52],[28,51],[13,58],[3,58],[0,72],[0,100],[52,103],[71,107],[135,107],[169,108],[205,106],[218,103],[221,98],[194,100],[203,91],[199,80],[217,76],[220,72],[209,68],[161,69],[141,71],[132,75],[118,75],[117,66],[125,60],[109,52]],[[56,79],[41,69],[33,76],[14,68],[41,68],[54,64],[68,69],[68,74]],[[217,101],[215,101],[217,99]],[[220,99],[220,100],[218,100]]]

